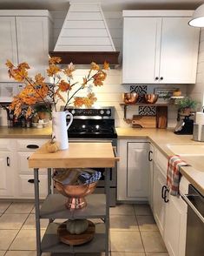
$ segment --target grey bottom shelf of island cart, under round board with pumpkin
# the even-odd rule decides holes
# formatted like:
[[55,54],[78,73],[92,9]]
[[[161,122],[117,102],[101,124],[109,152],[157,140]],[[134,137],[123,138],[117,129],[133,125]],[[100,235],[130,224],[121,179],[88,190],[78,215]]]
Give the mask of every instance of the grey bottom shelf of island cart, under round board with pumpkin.
[[81,246],[68,246],[59,241],[57,227],[59,224],[49,224],[44,233],[41,248],[43,253],[102,253],[106,243],[105,224],[95,225],[95,237]]

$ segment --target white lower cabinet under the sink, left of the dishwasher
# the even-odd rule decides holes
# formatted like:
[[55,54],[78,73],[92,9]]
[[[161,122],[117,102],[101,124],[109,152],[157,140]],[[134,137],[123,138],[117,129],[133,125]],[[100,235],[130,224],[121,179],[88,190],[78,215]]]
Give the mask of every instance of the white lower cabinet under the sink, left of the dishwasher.
[[[181,196],[169,195],[166,187],[168,159],[161,152],[155,152],[154,185],[153,185],[153,212],[156,224],[167,246],[170,256],[185,256],[187,205]],[[185,192],[188,191],[188,182],[184,177],[180,185]],[[165,202],[166,201],[166,202]]]

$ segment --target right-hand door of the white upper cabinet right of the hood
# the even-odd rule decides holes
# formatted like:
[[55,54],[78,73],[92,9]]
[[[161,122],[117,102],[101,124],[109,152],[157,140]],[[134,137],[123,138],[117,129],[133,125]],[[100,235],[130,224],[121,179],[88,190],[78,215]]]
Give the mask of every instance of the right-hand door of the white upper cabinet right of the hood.
[[162,18],[161,83],[195,83],[199,29],[190,27],[188,20],[188,17]]

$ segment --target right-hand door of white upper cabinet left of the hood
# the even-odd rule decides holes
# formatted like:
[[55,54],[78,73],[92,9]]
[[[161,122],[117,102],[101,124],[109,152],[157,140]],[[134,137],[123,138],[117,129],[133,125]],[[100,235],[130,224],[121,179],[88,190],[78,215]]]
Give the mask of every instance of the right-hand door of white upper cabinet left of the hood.
[[16,17],[19,62],[30,64],[29,75],[46,75],[49,54],[47,17]]

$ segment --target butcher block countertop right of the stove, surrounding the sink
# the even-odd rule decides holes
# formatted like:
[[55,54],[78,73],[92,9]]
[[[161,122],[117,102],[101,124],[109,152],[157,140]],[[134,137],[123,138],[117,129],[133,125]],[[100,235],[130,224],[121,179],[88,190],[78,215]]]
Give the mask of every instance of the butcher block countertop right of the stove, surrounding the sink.
[[[172,156],[168,145],[204,145],[193,140],[193,135],[176,135],[174,129],[117,128],[118,138],[148,139],[167,158]],[[194,154],[194,152],[192,152]],[[181,156],[188,165],[182,166],[181,174],[204,195],[204,152],[203,156]]]

